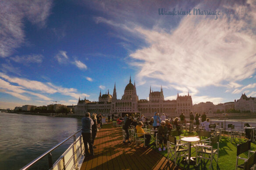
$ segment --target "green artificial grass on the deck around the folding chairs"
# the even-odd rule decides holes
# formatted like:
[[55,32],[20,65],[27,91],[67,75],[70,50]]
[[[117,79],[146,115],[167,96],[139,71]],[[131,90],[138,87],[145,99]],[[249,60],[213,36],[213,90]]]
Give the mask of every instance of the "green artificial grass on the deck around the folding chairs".
[[[181,134],[181,136],[188,136],[188,135],[184,135]],[[177,136],[177,139],[179,137]],[[219,142],[219,160],[218,160],[218,165],[215,162],[215,160],[213,160],[212,163],[212,170],[235,170],[235,164],[236,164],[236,151],[237,151],[237,144],[241,144],[246,142],[245,140],[243,140],[242,142],[238,141],[238,139],[234,142],[230,141],[230,139],[228,139],[227,136],[221,136],[220,142]],[[196,143],[194,143],[196,144]],[[151,140],[151,148],[157,150],[157,152],[159,152],[160,154],[164,155],[165,157],[167,157],[167,149],[165,151],[158,151],[158,148],[156,148],[156,145],[154,143],[153,140]],[[214,146],[214,148],[217,148],[217,145]],[[252,142],[251,143],[251,150],[255,151],[256,150],[256,143]],[[196,157],[196,147],[195,148],[191,148],[191,156],[192,157]],[[195,152],[195,153],[193,153]],[[246,154],[245,154],[246,153]],[[244,158],[248,158],[248,151],[246,151],[245,153],[242,153],[240,155],[240,157],[244,157]],[[252,153],[251,153],[252,154]],[[217,154],[214,155],[215,159],[217,160]],[[181,158],[182,159],[182,158]],[[240,160],[238,161],[238,164],[242,164],[244,161]],[[183,167],[184,169],[187,169],[188,165],[183,165],[181,163],[181,160],[178,160],[178,165],[180,167]],[[199,166],[193,166],[190,165],[189,166],[189,170],[208,170],[210,166],[210,160],[202,160],[199,163]],[[239,169],[239,168],[238,168]]]

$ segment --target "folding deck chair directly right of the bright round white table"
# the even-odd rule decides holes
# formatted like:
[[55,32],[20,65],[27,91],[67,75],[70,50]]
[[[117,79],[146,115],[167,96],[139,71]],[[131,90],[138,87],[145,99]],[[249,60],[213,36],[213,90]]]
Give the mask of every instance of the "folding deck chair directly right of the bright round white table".
[[[196,145],[196,164],[198,165],[199,162],[202,159],[210,160],[210,166],[209,169],[211,169],[213,160],[218,164],[218,159],[219,159],[219,139],[220,136],[213,136],[209,138],[208,141],[204,141],[205,143],[209,143],[209,145],[206,144],[201,144],[201,145]],[[215,144],[217,144],[217,148],[215,147]],[[208,156],[206,156],[208,155]],[[215,159],[215,155],[217,155],[217,160]]]

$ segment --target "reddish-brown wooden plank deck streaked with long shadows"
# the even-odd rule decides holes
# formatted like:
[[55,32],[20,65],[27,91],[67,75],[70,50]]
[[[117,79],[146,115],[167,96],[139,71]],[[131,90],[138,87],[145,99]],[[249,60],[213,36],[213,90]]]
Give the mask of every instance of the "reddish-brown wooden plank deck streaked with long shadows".
[[95,156],[85,158],[81,170],[164,170],[174,169],[171,162],[156,150],[135,146],[135,143],[122,143],[121,128],[111,124],[103,125],[97,133],[94,149]]

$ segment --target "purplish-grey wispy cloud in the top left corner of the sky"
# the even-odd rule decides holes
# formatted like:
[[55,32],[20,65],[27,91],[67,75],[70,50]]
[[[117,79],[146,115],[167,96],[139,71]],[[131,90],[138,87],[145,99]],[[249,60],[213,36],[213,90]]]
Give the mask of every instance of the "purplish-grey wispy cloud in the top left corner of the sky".
[[38,27],[46,25],[52,0],[10,1],[0,5],[0,57],[10,56],[25,42],[24,18]]

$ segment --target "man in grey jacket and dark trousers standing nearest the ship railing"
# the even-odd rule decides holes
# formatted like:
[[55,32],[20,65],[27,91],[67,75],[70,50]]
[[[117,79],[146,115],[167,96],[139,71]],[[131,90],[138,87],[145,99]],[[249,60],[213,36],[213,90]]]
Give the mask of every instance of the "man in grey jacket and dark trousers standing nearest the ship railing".
[[83,141],[85,145],[84,156],[89,156],[87,143],[89,144],[91,156],[94,156],[93,146],[92,146],[92,125],[93,124],[94,122],[90,118],[90,113],[86,112],[85,117],[82,118],[82,136],[83,136]]

